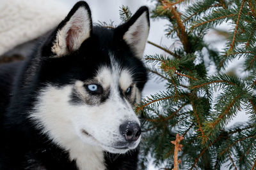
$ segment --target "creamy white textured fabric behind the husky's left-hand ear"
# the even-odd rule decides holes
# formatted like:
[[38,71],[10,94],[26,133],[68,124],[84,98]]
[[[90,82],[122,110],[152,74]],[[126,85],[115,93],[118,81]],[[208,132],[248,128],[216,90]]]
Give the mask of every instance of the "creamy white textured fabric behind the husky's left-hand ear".
[[69,10],[60,0],[1,0],[0,55],[49,31]]

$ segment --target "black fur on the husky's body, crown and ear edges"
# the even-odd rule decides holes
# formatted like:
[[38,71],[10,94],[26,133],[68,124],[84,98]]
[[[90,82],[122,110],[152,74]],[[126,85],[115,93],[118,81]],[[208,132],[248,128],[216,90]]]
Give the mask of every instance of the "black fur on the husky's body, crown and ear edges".
[[[46,82],[61,87],[74,80],[92,78],[100,65],[110,65],[109,52],[115,54],[120,66],[134,70],[133,78],[140,90],[147,81],[145,66],[121,38],[143,11],[148,13],[146,7],[140,8],[130,22],[117,29],[93,27],[90,38],[76,52],[60,58],[51,57],[56,32],[79,6],[90,11],[88,4],[83,1],[77,3],[25,62],[0,65],[0,169],[77,169],[76,161],[68,159],[68,152],[52,143],[27,118],[33,111],[38,90]],[[72,102],[79,103],[78,98],[75,96]],[[136,169],[138,149],[119,156],[106,153],[105,160],[108,169]]]

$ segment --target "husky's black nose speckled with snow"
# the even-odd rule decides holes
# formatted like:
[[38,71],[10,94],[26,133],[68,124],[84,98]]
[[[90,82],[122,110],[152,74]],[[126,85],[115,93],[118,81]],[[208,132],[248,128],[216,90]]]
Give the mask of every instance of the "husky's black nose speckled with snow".
[[141,134],[140,125],[134,122],[125,122],[120,125],[119,129],[128,142],[137,141]]

